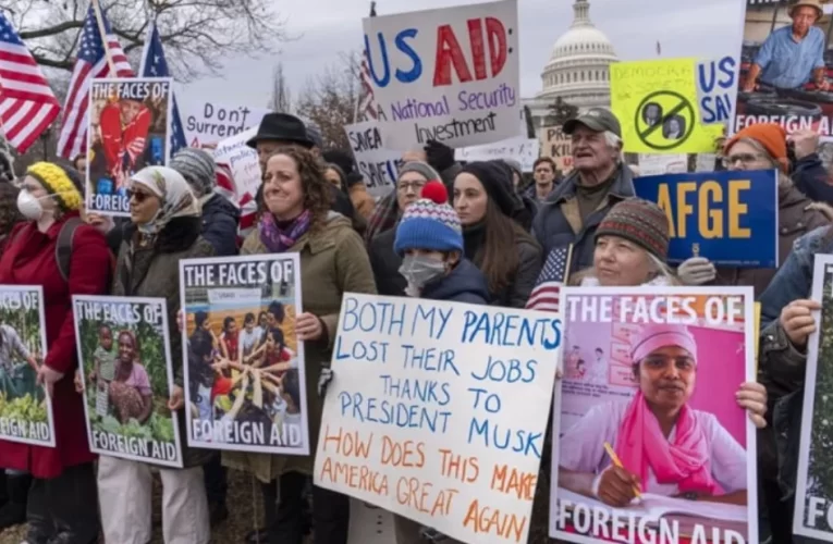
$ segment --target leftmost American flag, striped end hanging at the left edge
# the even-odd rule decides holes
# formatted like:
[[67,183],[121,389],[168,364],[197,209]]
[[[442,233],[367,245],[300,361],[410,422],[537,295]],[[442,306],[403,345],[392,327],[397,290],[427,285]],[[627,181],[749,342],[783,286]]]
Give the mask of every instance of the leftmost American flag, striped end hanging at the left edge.
[[7,141],[25,153],[60,111],[40,66],[0,12],[0,123]]

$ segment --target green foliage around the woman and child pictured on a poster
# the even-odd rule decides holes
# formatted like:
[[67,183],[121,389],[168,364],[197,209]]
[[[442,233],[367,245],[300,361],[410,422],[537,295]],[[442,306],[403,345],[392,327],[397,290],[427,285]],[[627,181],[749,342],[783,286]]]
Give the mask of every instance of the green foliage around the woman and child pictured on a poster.
[[[144,316],[145,302],[132,302],[138,307],[139,314]],[[152,306],[157,306],[154,304]],[[94,370],[93,353],[99,346],[99,327],[109,325],[113,333],[113,349],[118,350],[119,333],[131,331],[136,336],[139,348],[139,360],[150,379],[150,387],[154,391],[154,411],[147,423],[139,424],[135,419],[122,424],[115,417],[105,417],[96,413],[96,395],[94,385],[87,382],[87,409],[94,430],[115,433],[132,438],[155,440],[157,442],[174,443],[173,421],[171,411],[168,409],[168,370],[164,353],[164,333],[161,323],[118,324],[112,321],[81,319],[78,320],[78,333],[82,356],[84,360],[84,375],[89,376]]]

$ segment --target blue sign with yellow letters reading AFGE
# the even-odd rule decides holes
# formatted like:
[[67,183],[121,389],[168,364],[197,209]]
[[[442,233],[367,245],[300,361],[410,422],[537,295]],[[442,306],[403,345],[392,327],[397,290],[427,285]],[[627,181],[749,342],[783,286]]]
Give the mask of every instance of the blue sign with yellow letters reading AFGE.
[[637,177],[640,198],[669,217],[669,262],[706,257],[716,265],[779,267],[777,172],[700,172]]

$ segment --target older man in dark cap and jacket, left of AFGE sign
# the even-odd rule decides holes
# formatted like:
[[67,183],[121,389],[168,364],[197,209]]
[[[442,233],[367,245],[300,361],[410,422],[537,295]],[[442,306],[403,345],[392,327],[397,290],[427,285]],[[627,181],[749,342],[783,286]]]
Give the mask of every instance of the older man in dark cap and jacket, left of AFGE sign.
[[596,228],[616,202],[634,196],[634,185],[613,113],[592,108],[563,131],[573,140],[574,169],[541,202],[532,232],[544,255],[573,244],[571,271],[577,271],[592,265]]

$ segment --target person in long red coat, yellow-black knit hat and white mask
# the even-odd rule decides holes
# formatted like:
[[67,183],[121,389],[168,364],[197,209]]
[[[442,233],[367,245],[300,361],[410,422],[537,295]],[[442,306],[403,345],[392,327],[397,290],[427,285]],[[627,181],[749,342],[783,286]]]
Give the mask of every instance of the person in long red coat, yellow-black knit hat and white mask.
[[0,258],[0,284],[44,287],[47,354],[38,383],[52,398],[56,447],[0,441],[0,467],[33,477],[26,521],[29,544],[90,544],[99,532],[96,456],[87,444],[83,397],[75,391],[77,368],[72,295],[102,295],[110,283],[110,251],[93,226],[73,225],[69,277],[56,257],[61,228],[78,218],[82,183],[74,170],[38,162],[26,171],[17,224]]

